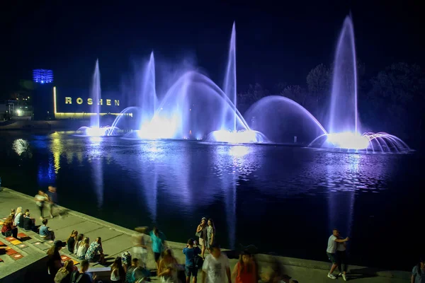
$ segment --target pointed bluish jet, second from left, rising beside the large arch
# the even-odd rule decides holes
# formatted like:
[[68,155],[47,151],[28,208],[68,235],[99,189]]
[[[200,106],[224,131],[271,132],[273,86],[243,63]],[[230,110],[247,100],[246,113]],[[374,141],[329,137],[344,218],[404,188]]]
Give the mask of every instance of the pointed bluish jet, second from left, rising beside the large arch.
[[149,62],[142,74],[140,81],[140,88],[137,91],[139,96],[139,105],[142,108],[142,117],[140,118],[140,128],[142,125],[150,122],[154,117],[155,110],[157,109],[157,92],[155,90],[155,59],[154,52],[150,54]]

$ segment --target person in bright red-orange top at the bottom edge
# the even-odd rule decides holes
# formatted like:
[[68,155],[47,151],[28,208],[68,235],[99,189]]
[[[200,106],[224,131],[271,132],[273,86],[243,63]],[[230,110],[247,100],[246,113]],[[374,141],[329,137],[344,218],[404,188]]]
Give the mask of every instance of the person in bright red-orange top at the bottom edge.
[[248,250],[244,250],[239,255],[239,261],[234,265],[232,277],[236,277],[235,283],[256,283],[256,264]]

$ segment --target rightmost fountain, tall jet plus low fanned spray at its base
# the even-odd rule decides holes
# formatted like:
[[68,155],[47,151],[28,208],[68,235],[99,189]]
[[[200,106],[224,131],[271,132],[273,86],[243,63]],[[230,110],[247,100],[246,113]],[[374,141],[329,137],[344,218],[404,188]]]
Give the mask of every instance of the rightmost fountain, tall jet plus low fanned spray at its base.
[[409,146],[398,137],[385,132],[361,134],[357,109],[357,66],[353,21],[344,20],[334,59],[329,133],[314,139],[311,146],[371,151],[409,151]]

